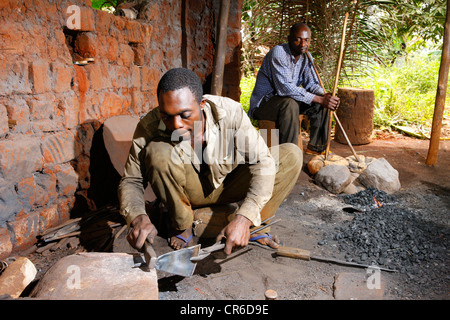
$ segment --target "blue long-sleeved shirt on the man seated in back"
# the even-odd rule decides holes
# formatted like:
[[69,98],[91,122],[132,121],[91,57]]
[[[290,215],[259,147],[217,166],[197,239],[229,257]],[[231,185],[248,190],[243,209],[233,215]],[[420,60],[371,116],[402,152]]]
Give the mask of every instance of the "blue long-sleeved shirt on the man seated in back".
[[280,44],[272,48],[263,60],[250,98],[248,114],[253,118],[253,112],[261,102],[275,95],[311,104],[315,95],[323,94],[319,79],[306,54],[301,54],[295,62],[289,44]]

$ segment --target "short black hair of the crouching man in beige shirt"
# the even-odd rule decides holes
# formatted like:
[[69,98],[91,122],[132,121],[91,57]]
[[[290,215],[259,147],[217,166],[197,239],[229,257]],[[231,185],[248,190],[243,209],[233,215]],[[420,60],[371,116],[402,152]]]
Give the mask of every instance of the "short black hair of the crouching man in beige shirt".
[[156,94],[159,98],[161,93],[189,88],[200,104],[203,97],[203,87],[200,78],[195,72],[186,68],[174,68],[167,71],[159,80]]

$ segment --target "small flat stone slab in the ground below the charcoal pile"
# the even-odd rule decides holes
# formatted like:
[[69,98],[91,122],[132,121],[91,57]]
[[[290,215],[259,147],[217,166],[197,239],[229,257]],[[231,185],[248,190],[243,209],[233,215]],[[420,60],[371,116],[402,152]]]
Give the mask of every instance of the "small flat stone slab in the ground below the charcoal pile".
[[380,271],[338,273],[334,278],[336,300],[382,300],[385,283]]

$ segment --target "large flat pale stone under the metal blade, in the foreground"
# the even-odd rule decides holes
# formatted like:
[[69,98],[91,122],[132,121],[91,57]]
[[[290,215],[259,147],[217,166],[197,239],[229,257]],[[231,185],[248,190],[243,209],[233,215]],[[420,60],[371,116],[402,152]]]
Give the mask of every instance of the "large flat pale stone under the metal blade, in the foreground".
[[56,262],[31,297],[49,300],[158,300],[156,270],[134,268],[139,255],[82,252]]

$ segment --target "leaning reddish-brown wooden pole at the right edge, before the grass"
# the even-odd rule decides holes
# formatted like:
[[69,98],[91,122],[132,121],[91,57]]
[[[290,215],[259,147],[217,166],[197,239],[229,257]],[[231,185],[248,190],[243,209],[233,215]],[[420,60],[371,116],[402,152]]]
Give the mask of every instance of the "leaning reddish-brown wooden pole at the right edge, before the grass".
[[447,0],[447,17],[444,24],[444,43],[442,46],[441,66],[439,67],[438,88],[434,105],[433,124],[431,126],[430,147],[426,164],[434,166],[439,153],[442,119],[445,109],[445,95],[447,92],[448,69],[450,65],[450,0]]

